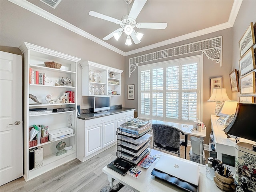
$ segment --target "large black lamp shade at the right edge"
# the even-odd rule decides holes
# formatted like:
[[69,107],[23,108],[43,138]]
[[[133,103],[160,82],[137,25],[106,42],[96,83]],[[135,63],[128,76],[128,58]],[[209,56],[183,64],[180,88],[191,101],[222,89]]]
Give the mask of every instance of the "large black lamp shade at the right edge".
[[256,142],[255,114],[256,104],[238,103],[236,114],[224,132]]

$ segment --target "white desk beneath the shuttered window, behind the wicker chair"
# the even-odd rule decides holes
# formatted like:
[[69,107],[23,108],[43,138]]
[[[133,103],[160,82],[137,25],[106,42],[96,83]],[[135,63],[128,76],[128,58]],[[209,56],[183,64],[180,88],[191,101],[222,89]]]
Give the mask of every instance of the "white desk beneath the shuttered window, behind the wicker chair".
[[[202,131],[191,131],[193,129],[193,125],[188,124],[180,124],[180,123],[173,123],[173,122],[167,122],[167,121],[160,121],[160,120],[150,120],[151,124],[164,124],[164,125],[170,125],[173,127],[178,128],[179,130],[182,130],[185,136],[186,142],[188,142],[188,135],[192,136],[198,136],[200,138],[200,164],[203,164],[203,152],[204,152],[204,138],[206,137],[206,128]],[[185,151],[186,153],[186,151]]]

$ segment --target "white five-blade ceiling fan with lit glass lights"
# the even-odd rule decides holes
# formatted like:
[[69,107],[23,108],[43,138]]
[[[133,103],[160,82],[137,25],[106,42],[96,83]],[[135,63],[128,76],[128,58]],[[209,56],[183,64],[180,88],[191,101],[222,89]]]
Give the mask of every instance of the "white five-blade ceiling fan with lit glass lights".
[[135,44],[138,44],[140,43],[140,40],[144,34],[136,32],[134,30],[135,27],[139,29],[165,29],[167,27],[167,23],[145,23],[145,22],[137,23],[136,22],[136,18],[138,17],[143,6],[146,4],[147,0],[134,0],[130,13],[129,13],[129,4],[132,2],[132,0],[124,0],[124,1],[126,2],[126,4],[128,4],[128,7],[127,7],[128,15],[123,16],[120,20],[97,13],[95,11],[89,12],[90,16],[94,16],[110,22],[114,22],[116,24],[120,24],[121,28],[118,28],[117,30],[108,34],[106,37],[103,38],[103,40],[109,40],[113,36],[116,40],[118,40],[122,36],[122,33],[125,32],[125,34],[127,35],[126,42],[125,42],[126,45],[132,44],[131,38]]

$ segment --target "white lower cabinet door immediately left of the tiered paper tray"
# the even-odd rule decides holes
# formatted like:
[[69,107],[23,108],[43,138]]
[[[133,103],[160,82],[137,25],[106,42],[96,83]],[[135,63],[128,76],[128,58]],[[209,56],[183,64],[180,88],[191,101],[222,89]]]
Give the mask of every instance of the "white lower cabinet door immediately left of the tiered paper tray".
[[115,121],[106,122],[102,124],[102,143],[103,147],[106,147],[116,142],[116,126]]

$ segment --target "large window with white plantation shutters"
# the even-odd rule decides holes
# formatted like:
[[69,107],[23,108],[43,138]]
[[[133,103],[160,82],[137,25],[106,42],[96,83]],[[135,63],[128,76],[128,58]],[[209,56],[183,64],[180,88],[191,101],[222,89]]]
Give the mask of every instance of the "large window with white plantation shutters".
[[202,56],[138,67],[138,117],[177,123],[202,119]]

